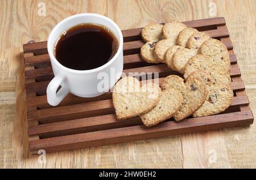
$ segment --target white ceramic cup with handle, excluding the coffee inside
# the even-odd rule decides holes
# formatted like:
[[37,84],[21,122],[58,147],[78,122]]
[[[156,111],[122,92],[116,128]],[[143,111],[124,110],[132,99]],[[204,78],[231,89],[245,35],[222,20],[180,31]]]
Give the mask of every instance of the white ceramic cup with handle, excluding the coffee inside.
[[[55,58],[53,49],[55,48],[56,42],[61,33],[81,23],[95,23],[104,25],[105,27],[108,27],[117,37],[119,41],[117,53],[105,65],[92,70],[80,71],[61,65]],[[114,86],[115,82],[117,82],[117,80],[120,78],[123,71],[122,32],[117,24],[113,22],[113,20],[102,15],[85,13],[69,16],[68,18],[62,20],[52,29],[52,32],[48,38],[47,49],[49,58],[51,60],[53,74],[55,76],[47,87],[47,101],[52,106],[58,105],[69,92],[80,97],[100,96]],[[101,72],[105,73],[107,75],[105,77],[109,78],[108,80],[105,80],[109,82],[109,84],[108,88],[104,90],[102,88],[98,88],[98,84],[102,82],[102,79],[98,77]],[[61,88],[56,93],[59,86],[61,86]]]

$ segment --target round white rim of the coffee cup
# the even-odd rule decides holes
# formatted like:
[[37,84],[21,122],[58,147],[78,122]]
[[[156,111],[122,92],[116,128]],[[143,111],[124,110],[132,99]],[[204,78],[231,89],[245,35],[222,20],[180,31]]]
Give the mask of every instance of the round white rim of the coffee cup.
[[[104,20],[107,20],[112,25],[114,25],[114,28],[117,30],[117,33],[118,33],[118,36],[119,36],[119,47],[118,47],[117,53],[115,53],[114,57],[112,59],[110,59],[109,62],[105,63],[104,65],[102,65],[100,67],[97,67],[97,68],[93,68],[91,70],[74,70],[72,68],[68,68],[68,67],[65,67],[65,66],[61,65],[61,63],[59,61],[57,61],[57,59],[53,55],[53,48],[49,44],[49,39],[53,36],[53,33],[56,31],[57,28],[60,27],[61,24],[65,23],[68,20],[71,20],[73,18],[77,18],[79,16],[97,16],[98,18],[102,18]],[[53,63],[55,63],[56,66],[59,66],[60,68],[66,70],[68,72],[73,72],[73,73],[76,73],[76,74],[88,74],[88,73],[92,73],[92,72],[97,72],[97,71],[101,71],[104,68],[110,66],[117,59],[119,54],[121,53],[121,51],[123,49],[122,47],[123,47],[123,35],[122,35],[121,29],[118,27],[118,25],[112,19],[110,19],[106,16],[103,16],[103,15],[100,15],[100,14],[94,14],[94,13],[76,14],[76,15],[72,15],[72,16],[69,16],[68,18],[65,18],[65,19],[61,20],[61,22],[59,22],[57,25],[55,25],[55,27],[52,29],[51,33],[49,34],[48,41],[47,41],[47,51],[48,51],[48,54],[49,54],[49,57],[50,57],[51,61]]]

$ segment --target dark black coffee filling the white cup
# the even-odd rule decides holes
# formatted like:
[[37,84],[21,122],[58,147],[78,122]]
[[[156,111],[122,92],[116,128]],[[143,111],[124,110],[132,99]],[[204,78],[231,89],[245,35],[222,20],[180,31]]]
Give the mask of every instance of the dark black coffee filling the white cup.
[[117,37],[97,24],[79,24],[63,32],[55,46],[61,65],[74,70],[91,70],[107,63],[118,49]]

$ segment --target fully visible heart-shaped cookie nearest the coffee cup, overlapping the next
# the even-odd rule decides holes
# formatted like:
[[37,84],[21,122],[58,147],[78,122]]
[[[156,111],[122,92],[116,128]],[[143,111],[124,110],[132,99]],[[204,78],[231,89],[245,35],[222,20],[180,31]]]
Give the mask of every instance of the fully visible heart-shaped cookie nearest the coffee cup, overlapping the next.
[[123,77],[114,87],[112,97],[118,119],[128,119],[153,109],[160,99],[161,89],[154,83],[141,86],[131,76]]

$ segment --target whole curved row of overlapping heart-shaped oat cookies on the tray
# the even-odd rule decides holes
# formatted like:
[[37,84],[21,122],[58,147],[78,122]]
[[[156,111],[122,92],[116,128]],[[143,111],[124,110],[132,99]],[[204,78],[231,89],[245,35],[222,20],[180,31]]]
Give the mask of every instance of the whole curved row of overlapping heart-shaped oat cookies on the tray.
[[[217,114],[230,106],[230,59],[221,41],[176,20],[146,25],[142,39],[146,42],[141,48],[144,61],[166,63],[183,78],[167,76],[160,88],[154,83],[141,87],[132,77],[119,80],[113,91],[118,119],[139,115],[144,125],[153,126],[171,117],[181,121],[190,115]],[[136,93],[127,92],[127,87],[137,89]]]

